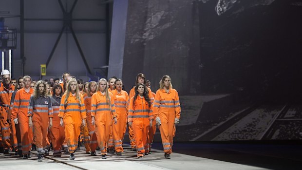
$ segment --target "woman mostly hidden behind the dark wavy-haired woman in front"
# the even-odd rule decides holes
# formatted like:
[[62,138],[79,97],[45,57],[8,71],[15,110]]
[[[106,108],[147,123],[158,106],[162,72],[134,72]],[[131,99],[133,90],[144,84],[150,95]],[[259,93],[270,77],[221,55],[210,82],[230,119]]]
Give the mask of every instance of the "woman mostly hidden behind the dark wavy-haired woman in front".
[[[136,80],[135,80],[135,85],[137,83],[142,83],[142,84],[146,84],[146,77],[144,74],[142,73],[139,73],[137,74],[136,76]],[[135,90],[134,90],[135,87],[133,87],[130,92],[129,92],[129,100],[135,95]],[[149,95],[149,98],[151,99],[151,103],[153,102],[153,97],[152,97],[152,92],[151,92],[151,89],[148,88],[148,91],[147,91],[148,95]],[[136,146],[135,146],[135,137],[134,137],[134,133],[133,133],[133,129],[132,127],[128,126],[128,130],[129,130],[129,139],[130,139],[130,145],[131,145],[131,148],[132,148],[132,151],[136,151]],[[147,153],[148,151],[146,151]]]

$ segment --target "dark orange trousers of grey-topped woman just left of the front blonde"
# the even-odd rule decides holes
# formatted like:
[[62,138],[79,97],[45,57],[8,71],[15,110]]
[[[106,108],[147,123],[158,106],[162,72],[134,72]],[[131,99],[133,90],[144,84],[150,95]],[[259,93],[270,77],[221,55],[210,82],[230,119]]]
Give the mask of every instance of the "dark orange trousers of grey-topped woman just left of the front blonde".
[[54,113],[53,127],[50,130],[49,136],[53,144],[54,156],[61,155],[62,145],[65,139],[64,127],[60,126],[60,118],[58,113]]

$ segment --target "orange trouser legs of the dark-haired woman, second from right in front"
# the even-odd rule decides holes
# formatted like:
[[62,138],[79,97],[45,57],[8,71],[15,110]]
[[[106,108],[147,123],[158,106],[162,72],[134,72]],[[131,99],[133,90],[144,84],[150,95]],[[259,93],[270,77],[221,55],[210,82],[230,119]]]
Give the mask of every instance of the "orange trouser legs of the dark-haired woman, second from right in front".
[[143,156],[145,151],[148,150],[147,136],[150,120],[149,118],[133,118],[132,127],[135,135],[137,156]]

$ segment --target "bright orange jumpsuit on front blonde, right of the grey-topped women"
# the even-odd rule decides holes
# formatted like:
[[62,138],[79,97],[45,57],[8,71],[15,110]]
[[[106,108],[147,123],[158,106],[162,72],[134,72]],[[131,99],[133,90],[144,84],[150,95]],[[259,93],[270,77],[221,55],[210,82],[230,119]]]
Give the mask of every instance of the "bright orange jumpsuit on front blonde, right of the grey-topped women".
[[63,118],[64,121],[65,139],[67,141],[68,150],[70,153],[74,153],[78,144],[82,119],[86,118],[86,109],[82,94],[80,94],[81,101],[78,101],[76,96],[70,93],[67,98],[67,103],[64,104],[66,97],[66,93],[63,94],[58,116]]

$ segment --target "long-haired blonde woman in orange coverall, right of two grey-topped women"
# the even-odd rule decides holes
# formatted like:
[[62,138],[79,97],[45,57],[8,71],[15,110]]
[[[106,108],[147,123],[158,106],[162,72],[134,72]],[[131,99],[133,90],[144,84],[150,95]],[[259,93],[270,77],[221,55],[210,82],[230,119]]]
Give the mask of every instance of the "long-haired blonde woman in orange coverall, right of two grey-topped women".
[[80,135],[81,122],[86,126],[86,109],[82,94],[79,93],[75,78],[67,85],[67,91],[63,94],[60,104],[60,125],[65,128],[65,138],[70,153],[69,160],[75,160],[78,136]]

